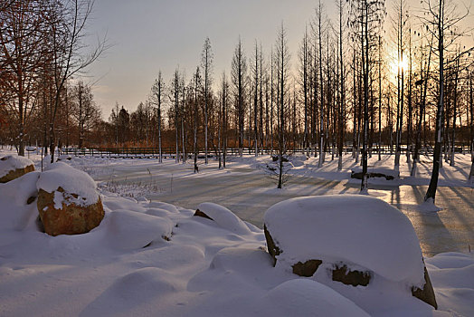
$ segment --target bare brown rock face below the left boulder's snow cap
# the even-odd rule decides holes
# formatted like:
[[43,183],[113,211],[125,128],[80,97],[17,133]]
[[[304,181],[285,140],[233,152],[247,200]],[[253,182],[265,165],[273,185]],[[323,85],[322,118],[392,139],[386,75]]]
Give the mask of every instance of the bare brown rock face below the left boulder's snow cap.
[[[66,193],[62,187],[48,193],[39,190],[37,207],[48,235],[81,235],[100,225],[104,208],[99,200],[90,206],[80,206],[68,197],[78,198],[76,194]],[[61,203],[58,204],[58,200]]]

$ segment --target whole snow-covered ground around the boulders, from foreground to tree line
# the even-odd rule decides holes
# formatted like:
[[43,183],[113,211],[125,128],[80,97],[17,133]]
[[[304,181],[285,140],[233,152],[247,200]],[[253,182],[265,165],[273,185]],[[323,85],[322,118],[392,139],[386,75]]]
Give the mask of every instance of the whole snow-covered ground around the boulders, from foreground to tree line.
[[[0,150],[0,156],[7,154]],[[40,159],[31,159],[38,169]],[[0,185],[0,316],[474,315],[469,156],[459,155],[456,167],[444,166],[437,213],[419,207],[429,182],[428,158],[416,178],[402,166],[395,184],[377,181],[369,191],[410,218],[425,256],[457,251],[424,259],[439,311],[380,283],[337,288],[273,267],[257,227],[265,211],[292,197],[356,194],[358,182],[348,178],[356,166],[349,156],[342,172],[337,160],[317,168],[317,160],[301,158],[292,160],[291,178],[278,190],[259,169],[265,159],[232,159],[227,170],[212,162],[194,175],[191,165],[174,160],[158,165],[152,159],[73,158],[71,166],[98,182],[106,211],[86,235],[52,237],[38,230],[36,206],[26,205],[33,173]],[[381,166],[393,164],[383,159]],[[376,158],[369,164],[376,165]],[[219,207],[208,211],[214,221],[193,216],[204,202],[228,207],[248,222]],[[379,252],[383,259],[394,250]],[[370,292],[379,294],[367,297]],[[388,299],[379,301],[380,292]]]

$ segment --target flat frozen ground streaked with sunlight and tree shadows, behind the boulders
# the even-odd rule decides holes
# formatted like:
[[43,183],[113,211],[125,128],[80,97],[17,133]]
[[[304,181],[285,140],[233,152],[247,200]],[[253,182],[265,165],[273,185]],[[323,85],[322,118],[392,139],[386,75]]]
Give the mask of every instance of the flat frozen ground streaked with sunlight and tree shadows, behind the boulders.
[[[415,178],[403,164],[400,180],[371,184],[371,196],[384,199],[409,216],[424,255],[466,252],[469,244],[474,246],[474,188],[466,181],[470,156],[457,155],[456,159],[455,167],[444,164],[441,170],[436,200],[441,211],[437,213],[423,212],[419,207],[430,182],[429,158],[422,157]],[[232,158],[225,170],[218,170],[217,162],[212,161],[208,166],[201,164],[197,175],[191,163],[175,164],[173,159],[161,165],[152,159],[73,159],[72,165],[88,171],[103,189],[121,195],[146,196],[191,209],[213,201],[259,227],[265,210],[282,200],[359,192],[360,181],[349,178],[351,168],[357,166],[350,156],[344,157],[341,172],[337,172],[336,159],[329,158],[322,168],[318,168],[318,159],[295,159],[283,189],[277,189],[275,181],[259,169],[267,160],[268,156]],[[374,156],[369,165],[393,167],[393,157],[384,156],[379,162]]]

